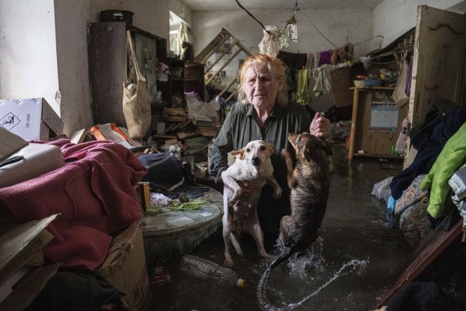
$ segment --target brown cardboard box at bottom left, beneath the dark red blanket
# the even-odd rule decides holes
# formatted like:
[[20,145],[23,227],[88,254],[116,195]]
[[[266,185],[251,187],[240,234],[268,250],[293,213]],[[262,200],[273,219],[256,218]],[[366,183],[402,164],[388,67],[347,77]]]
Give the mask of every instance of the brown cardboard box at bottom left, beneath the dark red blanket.
[[130,310],[148,310],[150,304],[144,240],[139,222],[119,234],[110,247],[99,272],[126,294],[123,301]]

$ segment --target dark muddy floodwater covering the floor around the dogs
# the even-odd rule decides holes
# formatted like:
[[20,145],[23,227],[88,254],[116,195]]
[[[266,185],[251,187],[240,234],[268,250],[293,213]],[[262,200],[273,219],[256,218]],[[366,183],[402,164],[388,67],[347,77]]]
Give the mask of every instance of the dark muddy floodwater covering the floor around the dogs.
[[[385,203],[371,195],[373,184],[396,175],[399,170],[391,168],[399,164],[387,169],[378,159],[349,163],[341,147],[334,146],[333,152],[335,174],[319,240],[303,257],[293,257],[272,271],[267,297],[274,305],[297,303],[320,289],[295,310],[372,310],[411,253],[397,220],[387,215]],[[244,257],[232,248],[233,270],[245,280],[242,289],[186,276],[178,268],[180,260],[157,263],[169,269],[172,282],[151,287],[151,310],[259,310],[256,287],[271,260],[257,255],[252,239],[244,239],[242,246]],[[223,263],[223,254],[222,230],[191,253],[217,264]]]

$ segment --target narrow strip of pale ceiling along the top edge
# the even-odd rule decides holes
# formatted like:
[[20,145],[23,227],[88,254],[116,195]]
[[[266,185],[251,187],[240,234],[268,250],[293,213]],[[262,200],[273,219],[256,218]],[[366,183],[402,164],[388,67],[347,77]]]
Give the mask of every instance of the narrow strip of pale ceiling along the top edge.
[[[181,0],[193,11],[241,10],[235,0]],[[294,8],[296,0],[238,0],[247,10]],[[383,0],[298,0],[299,8],[375,8]]]

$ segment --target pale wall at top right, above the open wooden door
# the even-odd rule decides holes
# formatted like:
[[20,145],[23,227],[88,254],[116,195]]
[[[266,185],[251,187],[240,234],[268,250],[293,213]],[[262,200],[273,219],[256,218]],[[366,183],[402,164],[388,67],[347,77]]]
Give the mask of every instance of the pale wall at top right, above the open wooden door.
[[384,0],[374,9],[374,35],[383,35],[379,49],[390,44],[403,33],[416,26],[417,6],[431,6],[448,10],[463,0]]

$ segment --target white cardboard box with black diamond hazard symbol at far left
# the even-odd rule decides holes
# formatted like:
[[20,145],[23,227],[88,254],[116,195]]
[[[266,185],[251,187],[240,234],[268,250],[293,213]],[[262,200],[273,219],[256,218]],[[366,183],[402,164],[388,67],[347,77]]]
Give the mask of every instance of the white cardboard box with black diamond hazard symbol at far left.
[[44,98],[1,99],[0,126],[26,141],[63,134],[63,122]]

